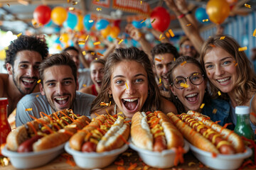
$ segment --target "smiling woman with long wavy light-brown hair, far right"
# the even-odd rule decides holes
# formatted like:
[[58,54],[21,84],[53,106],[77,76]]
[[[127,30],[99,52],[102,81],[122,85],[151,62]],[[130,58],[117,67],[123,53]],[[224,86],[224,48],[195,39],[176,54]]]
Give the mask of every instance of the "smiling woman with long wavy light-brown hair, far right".
[[[200,62],[210,80],[213,96],[230,102],[231,118],[236,124],[235,106],[249,106],[256,113],[256,76],[245,55],[245,47],[227,35],[208,38],[204,42]],[[256,116],[250,114],[252,130],[256,128]]]

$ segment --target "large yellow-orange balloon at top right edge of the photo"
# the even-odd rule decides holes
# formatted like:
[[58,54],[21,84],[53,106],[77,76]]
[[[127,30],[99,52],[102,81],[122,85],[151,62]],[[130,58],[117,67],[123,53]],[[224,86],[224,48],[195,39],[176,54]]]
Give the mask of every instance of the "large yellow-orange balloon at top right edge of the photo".
[[226,0],[210,0],[206,5],[206,13],[211,22],[220,24],[229,16],[230,6]]

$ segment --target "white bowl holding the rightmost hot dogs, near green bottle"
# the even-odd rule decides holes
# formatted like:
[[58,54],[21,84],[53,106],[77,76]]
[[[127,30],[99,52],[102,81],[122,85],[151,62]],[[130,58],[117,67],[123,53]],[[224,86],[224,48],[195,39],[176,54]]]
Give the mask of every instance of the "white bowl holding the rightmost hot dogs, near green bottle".
[[212,153],[198,149],[190,143],[189,147],[199,161],[212,169],[238,169],[241,166],[243,160],[252,155],[252,150],[249,147],[246,147],[245,153],[231,155],[217,154],[216,157],[213,157]]

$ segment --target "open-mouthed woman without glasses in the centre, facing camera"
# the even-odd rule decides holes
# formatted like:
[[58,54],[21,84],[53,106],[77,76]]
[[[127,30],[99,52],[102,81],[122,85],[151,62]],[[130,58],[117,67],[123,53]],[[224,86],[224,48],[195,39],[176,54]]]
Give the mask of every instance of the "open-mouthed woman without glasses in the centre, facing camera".
[[162,97],[149,57],[136,47],[118,48],[105,64],[100,94],[92,102],[91,116],[122,112],[132,118],[137,111],[177,113],[174,103]]

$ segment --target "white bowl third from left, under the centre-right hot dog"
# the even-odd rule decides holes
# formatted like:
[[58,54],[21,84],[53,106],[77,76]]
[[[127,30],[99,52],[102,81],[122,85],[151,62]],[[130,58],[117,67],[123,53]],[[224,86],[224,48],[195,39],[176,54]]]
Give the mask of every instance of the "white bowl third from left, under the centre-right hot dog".
[[[135,146],[132,140],[129,140],[129,147],[137,151],[142,161],[149,166],[159,169],[166,169],[174,166],[174,159],[176,157],[174,149],[168,149],[162,152],[152,152]],[[188,152],[189,146],[186,140],[183,149],[185,152]]]

